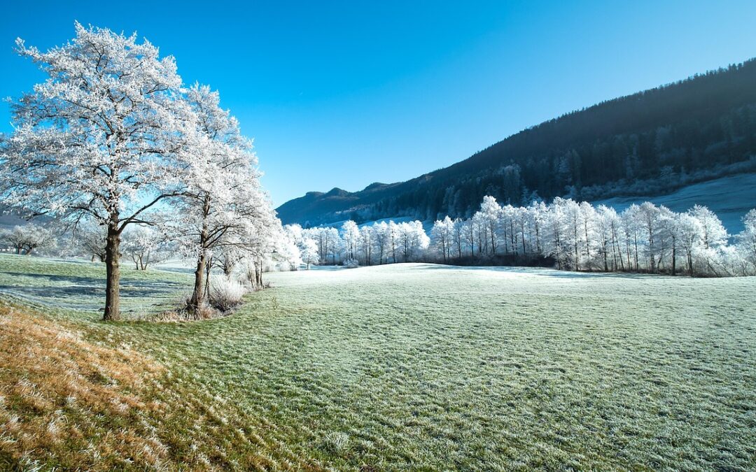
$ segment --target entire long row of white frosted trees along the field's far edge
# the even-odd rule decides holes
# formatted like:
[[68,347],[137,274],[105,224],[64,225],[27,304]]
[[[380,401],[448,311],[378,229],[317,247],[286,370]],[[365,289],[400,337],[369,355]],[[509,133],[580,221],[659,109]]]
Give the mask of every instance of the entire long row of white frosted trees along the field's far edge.
[[553,264],[560,270],[756,275],[756,210],[730,235],[708,208],[676,213],[650,202],[617,212],[556,198],[547,205],[499,205],[485,196],[472,217],[302,230],[286,227],[305,264],[372,265],[412,261],[451,264]]

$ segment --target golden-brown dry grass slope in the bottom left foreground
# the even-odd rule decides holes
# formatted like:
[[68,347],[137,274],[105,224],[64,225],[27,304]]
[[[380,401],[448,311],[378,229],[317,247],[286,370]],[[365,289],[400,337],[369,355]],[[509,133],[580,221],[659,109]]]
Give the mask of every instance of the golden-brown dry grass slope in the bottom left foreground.
[[321,468],[191,372],[93,341],[105,328],[0,301],[0,470]]

